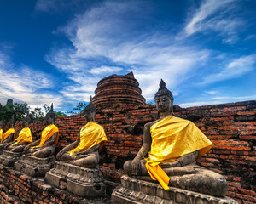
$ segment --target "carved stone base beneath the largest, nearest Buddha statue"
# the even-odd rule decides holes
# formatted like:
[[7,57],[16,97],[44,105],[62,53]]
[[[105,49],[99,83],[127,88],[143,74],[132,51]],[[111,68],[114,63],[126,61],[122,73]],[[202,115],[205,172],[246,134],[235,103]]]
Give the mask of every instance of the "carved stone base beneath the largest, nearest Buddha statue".
[[111,197],[113,204],[238,204],[228,197],[215,197],[174,187],[164,190],[160,184],[130,178],[126,175],[121,178],[121,184],[122,186],[113,190]]

